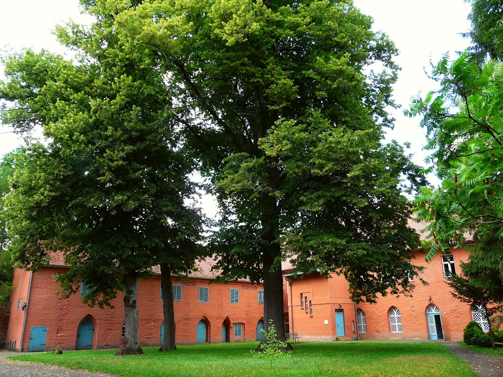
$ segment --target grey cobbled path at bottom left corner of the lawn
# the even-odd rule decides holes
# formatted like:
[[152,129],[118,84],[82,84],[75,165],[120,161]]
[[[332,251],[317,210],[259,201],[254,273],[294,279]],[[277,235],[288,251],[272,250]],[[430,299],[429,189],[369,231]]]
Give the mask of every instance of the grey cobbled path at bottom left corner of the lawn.
[[118,377],[7,358],[16,355],[19,355],[19,352],[0,351],[0,377]]

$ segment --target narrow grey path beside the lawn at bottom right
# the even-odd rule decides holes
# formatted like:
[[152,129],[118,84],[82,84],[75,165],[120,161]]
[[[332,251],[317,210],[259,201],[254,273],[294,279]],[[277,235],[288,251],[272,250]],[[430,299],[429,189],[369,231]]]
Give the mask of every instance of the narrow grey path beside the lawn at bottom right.
[[480,377],[503,376],[503,358],[477,353],[456,343],[445,343],[445,346],[470,364]]

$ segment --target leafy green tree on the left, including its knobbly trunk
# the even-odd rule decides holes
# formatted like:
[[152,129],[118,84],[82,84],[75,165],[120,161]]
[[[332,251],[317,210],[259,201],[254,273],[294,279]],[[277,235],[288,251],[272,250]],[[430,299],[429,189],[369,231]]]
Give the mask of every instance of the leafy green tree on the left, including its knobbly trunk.
[[137,278],[151,273],[156,258],[175,271],[190,266],[201,220],[184,205],[193,194],[191,165],[165,111],[162,75],[125,58],[97,30],[66,36],[88,52],[78,65],[30,50],[6,61],[0,98],[13,104],[4,122],[18,130],[38,123],[47,138],[16,164],[8,230],[17,259],[30,268],[51,250],[65,252],[71,268],[57,280],[66,295],[87,281],[94,291],[84,301],[110,305],[125,286],[119,354],[141,353]]

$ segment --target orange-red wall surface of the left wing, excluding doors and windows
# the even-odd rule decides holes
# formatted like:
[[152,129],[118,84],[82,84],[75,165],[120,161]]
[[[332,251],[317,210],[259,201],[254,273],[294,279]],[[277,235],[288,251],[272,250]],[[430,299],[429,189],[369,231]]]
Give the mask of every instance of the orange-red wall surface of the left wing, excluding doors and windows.
[[[33,273],[30,301],[27,308],[25,334],[22,351],[28,350],[32,326],[47,326],[46,350],[60,345],[62,349],[75,349],[77,328],[82,319],[91,318],[95,324],[94,348],[118,347],[121,342],[121,329],[124,322],[122,293],[112,302],[115,309],[90,308],[80,302],[78,294],[69,299],[55,295],[58,287],[53,274],[60,268],[47,267]],[[11,319],[7,342],[16,342],[13,347],[19,350],[23,327],[22,310],[17,309],[18,296],[26,300],[29,272],[16,269]],[[204,319],[208,324],[208,340],[222,341],[222,323],[228,317],[230,322],[230,341],[255,340],[257,322],[263,317],[264,305],[258,303],[258,290],[262,286],[248,282],[229,282],[228,284],[209,284],[207,279],[191,278],[174,281],[182,285],[182,301],[174,302],[176,339],[178,344],[196,342],[197,324]],[[199,302],[199,287],[209,288],[209,302]],[[230,289],[239,290],[239,303],[230,303]],[[158,345],[162,324],[162,301],[160,301],[160,278],[138,280],[138,322],[140,344]],[[234,338],[233,324],[242,323],[242,337]]]

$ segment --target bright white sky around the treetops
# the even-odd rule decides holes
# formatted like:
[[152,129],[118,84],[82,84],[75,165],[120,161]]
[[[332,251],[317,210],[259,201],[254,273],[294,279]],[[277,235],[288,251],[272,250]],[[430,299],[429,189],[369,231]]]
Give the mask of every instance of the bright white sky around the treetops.
[[[394,86],[394,97],[402,109],[408,107],[410,97],[417,92],[435,88],[425,74],[425,68],[430,71],[430,60],[437,62],[449,51],[453,57],[456,51],[468,47],[468,40],[459,35],[470,26],[466,20],[470,6],[463,0],[355,0],[355,5],[372,16],[374,30],[388,34],[400,50],[396,61],[402,70]],[[80,23],[89,20],[80,15],[77,0],[0,0],[0,48],[45,48],[63,54],[65,50],[51,30],[68,19]],[[0,67],[0,79],[3,78]],[[402,109],[393,112],[396,122],[390,138],[410,142],[414,162],[423,165],[428,153],[422,151],[426,141],[418,126],[420,119],[405,118]],[[21,143],[9,131],[9,127],[0,125],[0,156]]]

